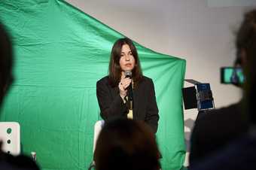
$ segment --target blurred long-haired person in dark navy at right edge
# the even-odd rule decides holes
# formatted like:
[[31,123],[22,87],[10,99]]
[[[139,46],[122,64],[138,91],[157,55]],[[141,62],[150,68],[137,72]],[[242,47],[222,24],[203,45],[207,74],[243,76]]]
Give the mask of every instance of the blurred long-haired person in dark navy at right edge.
[[236,140],[229,141],[224,147],[191,165],[190,169],[256,169],[256,9],[245,14],[236,35],[236,50],[246,79],[243,113],[248,115],[248,129]]

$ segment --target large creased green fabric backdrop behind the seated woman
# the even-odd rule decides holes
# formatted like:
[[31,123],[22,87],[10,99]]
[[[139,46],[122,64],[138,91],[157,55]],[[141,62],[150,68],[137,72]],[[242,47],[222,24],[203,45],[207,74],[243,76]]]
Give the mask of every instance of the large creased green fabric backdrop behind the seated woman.
[[[86,169],[100,120],[96,81],[108,74],[111,47],[124,37],[61,0],[1,0],[0,20],[14,44],[15,81],[2,121],[21,126],[23,153],[42,169]],[[184,162],[181,100],[185,60],[136,44],[143,73],[154,80],[163,169]]]

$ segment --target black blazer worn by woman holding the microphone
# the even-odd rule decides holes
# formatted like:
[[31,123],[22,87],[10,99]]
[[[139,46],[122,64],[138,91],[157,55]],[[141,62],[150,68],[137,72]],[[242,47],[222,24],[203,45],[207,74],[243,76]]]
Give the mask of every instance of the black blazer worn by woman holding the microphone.
[[[128,107],[123,103],[118,87],[111,87],[108,76],[97,82],[96,94],[103,120],[127,117]],[[157,132],[159,115],[151,78],[143,76],[133,90],[133,119],[145,121],[154,133]]]

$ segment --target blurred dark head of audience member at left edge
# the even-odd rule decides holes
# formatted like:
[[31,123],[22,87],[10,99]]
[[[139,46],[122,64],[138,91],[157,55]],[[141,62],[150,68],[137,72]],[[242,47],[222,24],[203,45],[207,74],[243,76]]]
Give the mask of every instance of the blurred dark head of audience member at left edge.
[[4,26],[0,23],[0,107],[2,100],[13,80],[12,76],[13,53],[11,40]]

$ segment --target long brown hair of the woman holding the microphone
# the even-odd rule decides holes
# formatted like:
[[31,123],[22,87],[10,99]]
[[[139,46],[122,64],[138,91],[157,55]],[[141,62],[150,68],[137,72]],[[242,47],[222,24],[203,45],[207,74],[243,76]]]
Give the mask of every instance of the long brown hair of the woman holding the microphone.
[[121,50],[124,44],[129,45],[133,53],[133,57],[135,59],[135,65],[132,72],[133,72],[133,82],[136,87],[136,84],[139,83],[139,80],[142,79],[142,68],[139,62],[139,56],[138,56],[136,47],[133,44],[133,41],[130,40],[129,38],[118,39],[117,41],[115,41],[112,47],[110,62],[108,66],[109,80],[112,87],[116,87],[120,81],[122,70],[120,68],[119,61],[120,61]]

